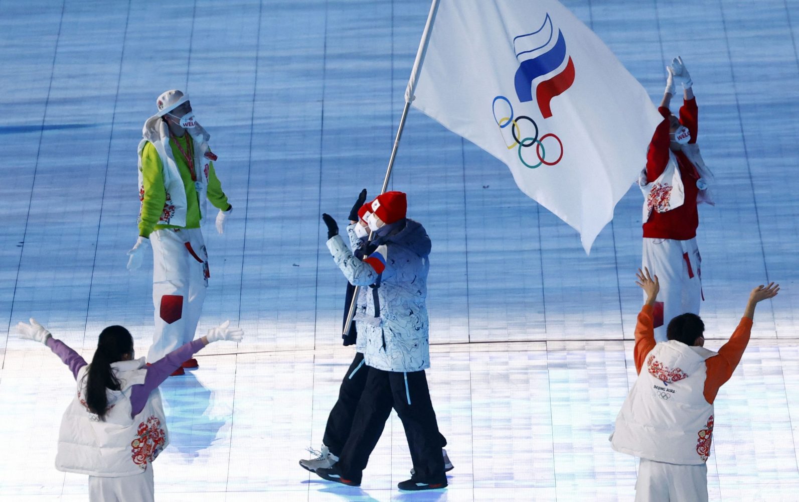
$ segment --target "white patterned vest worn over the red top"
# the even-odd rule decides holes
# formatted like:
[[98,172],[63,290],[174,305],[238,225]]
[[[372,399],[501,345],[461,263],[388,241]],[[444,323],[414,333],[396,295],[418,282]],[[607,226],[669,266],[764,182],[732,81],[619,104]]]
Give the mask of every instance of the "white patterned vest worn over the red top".
[[[682,145],[682,153],[686,154],[688,160],[694,164],[699,173],[701,184],[704,189],[699,189],[697,203],[715,205],[713,194],[710,192],[710,185],[713,184],[714,176],[710,169],[705,165],[702,154],[699,153],[699,145],[688,143]],[[700,184],[700,181],[698,181]],[[699,186],[699,185],[698,185]],[[677,156],[669,150],[669,163],[663,170],[658,179],[651,183],[646,182],[646,168],[642,169],[638,175],[638,187],[644,194],[644,205],[642,211],[642,222],[646,223],[652,214],[653,209],[658,213],[666,213],[671,209],[680,207],[686,201],[686,190],[682,185],[680,168],[677,164]]]

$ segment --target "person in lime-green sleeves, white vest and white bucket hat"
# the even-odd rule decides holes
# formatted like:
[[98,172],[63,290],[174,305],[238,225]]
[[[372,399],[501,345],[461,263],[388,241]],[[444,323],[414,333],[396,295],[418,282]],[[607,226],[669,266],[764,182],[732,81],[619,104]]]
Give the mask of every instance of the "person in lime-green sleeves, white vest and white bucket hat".
[[[128,269],[138,269],[153,245],[155,332],[148,361],[193,340],[211,275],[200,229],[206,201],[219,209],[219,233],[233,210],[213,167],[210,135],[197,122],[189,97],[168,90],[156,104],[138,147],[139,237],[128,252]],[[189,358],[175,375],[195,368],[197,360]]]

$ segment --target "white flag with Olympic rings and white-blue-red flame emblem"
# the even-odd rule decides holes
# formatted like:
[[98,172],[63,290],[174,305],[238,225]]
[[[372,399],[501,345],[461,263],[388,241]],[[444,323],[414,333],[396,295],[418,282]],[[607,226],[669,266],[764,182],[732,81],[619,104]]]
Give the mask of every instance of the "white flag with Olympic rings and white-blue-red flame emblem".
[[662,117],[556,0],[440,0],[412,105],[511,169],[586,253]]

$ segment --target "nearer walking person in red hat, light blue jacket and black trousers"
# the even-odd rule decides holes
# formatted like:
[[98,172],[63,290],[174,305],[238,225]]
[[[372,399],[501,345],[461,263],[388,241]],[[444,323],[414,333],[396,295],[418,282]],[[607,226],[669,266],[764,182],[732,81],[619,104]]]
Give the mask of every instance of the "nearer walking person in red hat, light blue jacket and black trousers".
[[383,193],[368,209],[364,220],[377,236],[376,249],[363,260],[344,243],[336,221],[322,215],[333,260],[352,285],[362,286],[355,319],[359,329],[363,327],[359,337],[366,337],[364,363],[369,368],[339,460],[331,468],[317,468],[316,474],[325,480],[360,486],[369,455],[394,408],[402,420],[413,461],[411,479],[398,487],[444,488],[443,436],[424,373],[430,368],[425,301],[430,237],[419,222],[406,217],[405,193]]

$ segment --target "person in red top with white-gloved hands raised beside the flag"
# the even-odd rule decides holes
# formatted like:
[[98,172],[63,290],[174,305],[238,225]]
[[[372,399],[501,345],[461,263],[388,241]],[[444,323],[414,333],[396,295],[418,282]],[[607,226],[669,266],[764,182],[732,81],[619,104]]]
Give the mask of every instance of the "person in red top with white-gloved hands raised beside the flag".
[[[666,340],[664,321],[681,313],[699,313],[703,300],[702,257],[696,241],[697,205],[714,204],[713,174],[699,153],[698,107],[694,82],[682,58],[666,68],[666,91],[658,111],[663,121],[655,129],[646,153],[646,168],[638,178],[644,194],[642,266],[660,277],[662,301],[654,305],[655,339]],[[682,82],[679,118],[669,110],[675,82]]]

